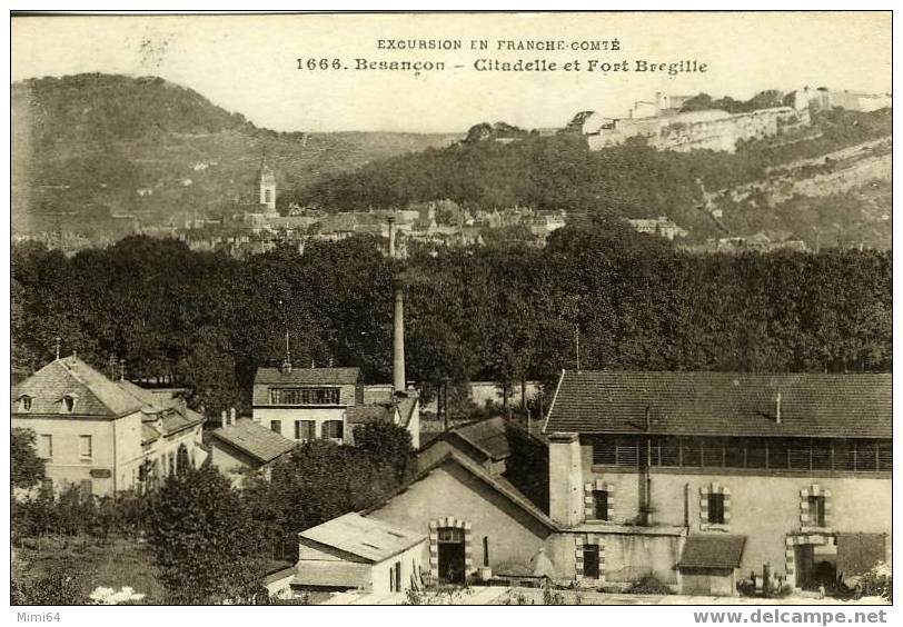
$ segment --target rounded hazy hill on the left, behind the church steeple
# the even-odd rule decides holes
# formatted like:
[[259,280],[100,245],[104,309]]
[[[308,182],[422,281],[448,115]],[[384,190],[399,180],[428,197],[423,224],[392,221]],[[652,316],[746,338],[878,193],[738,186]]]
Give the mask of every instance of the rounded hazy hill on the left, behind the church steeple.
[[[456,136],[260,129],[155,77],[78,74],[12,86],[13,231],[115,231],[219,211],[247,195],[260,156],[282,191]],[[289,193],[282,198],[288,199]]]

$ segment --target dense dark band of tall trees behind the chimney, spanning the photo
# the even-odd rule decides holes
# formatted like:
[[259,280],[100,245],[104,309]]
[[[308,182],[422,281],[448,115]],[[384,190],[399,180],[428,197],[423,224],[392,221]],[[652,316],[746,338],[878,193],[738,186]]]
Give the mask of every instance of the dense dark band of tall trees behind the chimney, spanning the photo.
[[[413,248],[393,268],[367,238],[239,261],[142,237],[67,258],[12,253],[13,366],[63,354],[241,407],[289,331],[297,366],[390,380],[393,275],[406,283],[408,377],[553,381],[575,366],[645,370],[891,369],[891,253],[693,255],[617,220],[545,249]],[[115,369],[118,372],[118,368]]]

